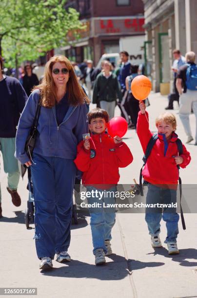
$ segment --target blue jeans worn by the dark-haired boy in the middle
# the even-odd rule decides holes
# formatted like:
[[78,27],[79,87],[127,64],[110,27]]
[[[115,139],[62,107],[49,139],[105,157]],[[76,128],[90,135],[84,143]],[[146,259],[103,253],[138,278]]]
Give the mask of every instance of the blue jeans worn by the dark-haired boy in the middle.
[[[99,190],[104,191],[103,189],[97,189],[93,186],[87,186],[87,191]],[[112,192],[111,197],[108,195],[101,200],[98,198],[88,198],[88,203],[99,203],[101,207],[98,208],[89,208],[90,211],[90,226],[92,231],[92,242],[93,242],[93,254],[98,248],[102,248],[106,252],[105,240],[111,240],[112,235],[111,231],[116,222],[116,208],[104,208],[103,203],[106,204],[115,204],[116,198],[114,192],[116,192],[116,187],[107,189],[106,191]]]

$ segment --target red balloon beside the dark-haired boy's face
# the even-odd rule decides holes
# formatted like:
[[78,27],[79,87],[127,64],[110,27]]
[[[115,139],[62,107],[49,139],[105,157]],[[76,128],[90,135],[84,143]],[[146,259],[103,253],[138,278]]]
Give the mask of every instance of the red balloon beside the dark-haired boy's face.
[[109,121],[108,133],[111,137],[118,135],[120,138],[125,135],[128,130],[127,121],[123,117],[114,117]]

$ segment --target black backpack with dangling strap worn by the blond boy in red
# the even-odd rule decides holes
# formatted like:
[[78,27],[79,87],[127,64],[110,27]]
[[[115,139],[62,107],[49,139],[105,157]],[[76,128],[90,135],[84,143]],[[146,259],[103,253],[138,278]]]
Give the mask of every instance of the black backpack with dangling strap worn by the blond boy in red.
[[[143,167],[145,166],[145,164],[147,162],[147,159],[148,159],[149,155],[151,154],[151,150],[153,149],[153,146],[155,145],[157,139],[158,139],[158,133],[155,133],[151,137],[150,141],[148,142],[145,154],[142,158],[144,164],[143,164],[142,168],[140,169],[140,174],[139,174],[139,189],[140,189],[140,195],[141,196],[143,196],[142,170],[143,170]],[[183,153],[183,145],[182,145],[181,140],[177,139],[176,144],[177,144],[178,153],[179,153],[179,155],[181,155]],[[178,172],[179,172],[179,168],[180,168],[179,165],[177,165],[177,168],[178,168]],[[185,220],[184,220],[184,217],[183,217],[183,211],[182,211],[182,206],[181,206],[182,186],[181,186],[181,178],[180,177],[178,177],[178,183],[179,183],[179,191],[180,191],[180,216],[181,216],[181,222],[182,222],[183,230],[185,230],[186,226],[185,226]]]

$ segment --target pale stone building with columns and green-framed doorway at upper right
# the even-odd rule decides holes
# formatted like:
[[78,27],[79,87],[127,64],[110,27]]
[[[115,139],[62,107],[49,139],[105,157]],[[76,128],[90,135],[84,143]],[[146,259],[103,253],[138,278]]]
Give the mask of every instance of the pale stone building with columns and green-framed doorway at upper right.
[[145,64],[152,69],[153,90],[173,91],[173,50],[197,53],[197,0],[143,0]]

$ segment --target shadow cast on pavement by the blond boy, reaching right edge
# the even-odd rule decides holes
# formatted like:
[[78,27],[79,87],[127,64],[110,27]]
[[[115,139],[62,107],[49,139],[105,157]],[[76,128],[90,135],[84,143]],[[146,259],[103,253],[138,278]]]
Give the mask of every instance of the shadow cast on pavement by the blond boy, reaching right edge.
[[180,266],[192,267],[197,266],[197,261],[187,261],[187,259],[197,260],[197,249],[195,248],[184,248],[179,249],[179,255],[168,255],[168,250],[164,247],[155,249],[155,252],[148,255],[160,255],[166,258],[172,258],[172,261],[179,262]]

